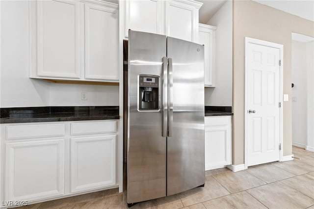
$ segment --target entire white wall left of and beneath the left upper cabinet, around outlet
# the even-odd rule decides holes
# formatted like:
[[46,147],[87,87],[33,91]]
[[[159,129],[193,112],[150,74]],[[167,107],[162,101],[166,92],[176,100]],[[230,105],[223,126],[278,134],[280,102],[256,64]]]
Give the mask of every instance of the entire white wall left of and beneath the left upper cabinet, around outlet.
[[[28,78],[28,1],[0,1],[0,107],[119,105],[119,87]],[[87,92],[87,101],[80,92]]]

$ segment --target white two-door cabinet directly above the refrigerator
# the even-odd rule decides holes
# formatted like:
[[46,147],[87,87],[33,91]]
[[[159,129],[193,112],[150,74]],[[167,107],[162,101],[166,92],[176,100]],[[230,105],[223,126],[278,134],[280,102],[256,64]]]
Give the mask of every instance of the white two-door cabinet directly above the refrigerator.
[[201,6],[194,0],[126,0],[125,37],[131,29],[197,42]]

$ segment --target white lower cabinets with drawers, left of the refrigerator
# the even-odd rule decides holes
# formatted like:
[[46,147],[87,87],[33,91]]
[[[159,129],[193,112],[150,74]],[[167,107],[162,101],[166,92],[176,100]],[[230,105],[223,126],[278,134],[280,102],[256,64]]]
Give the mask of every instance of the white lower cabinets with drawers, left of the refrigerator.
[[119,186],[116,120],[0,128],[1,203],[31,204]]

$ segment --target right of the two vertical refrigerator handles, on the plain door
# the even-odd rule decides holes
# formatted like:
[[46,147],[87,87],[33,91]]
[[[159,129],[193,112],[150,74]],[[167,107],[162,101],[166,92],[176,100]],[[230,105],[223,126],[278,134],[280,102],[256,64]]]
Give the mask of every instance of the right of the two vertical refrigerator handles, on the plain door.
[[168,136],[172,136],[172,120],[173,120],[173,74],[172,74],[172,58],[168,58],[169,63],[169,108],[168,108]]

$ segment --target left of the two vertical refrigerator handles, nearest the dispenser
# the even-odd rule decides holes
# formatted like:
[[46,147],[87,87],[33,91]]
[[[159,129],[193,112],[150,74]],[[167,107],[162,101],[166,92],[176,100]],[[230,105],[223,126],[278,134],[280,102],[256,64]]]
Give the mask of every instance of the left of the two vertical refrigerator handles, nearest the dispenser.
[[167,57],[162,57],[163,66],[163,82],[162,82],[162,112],[163,112],[163,125],[162,136],[167,136],[167,123],[168,123],[168,62]]

